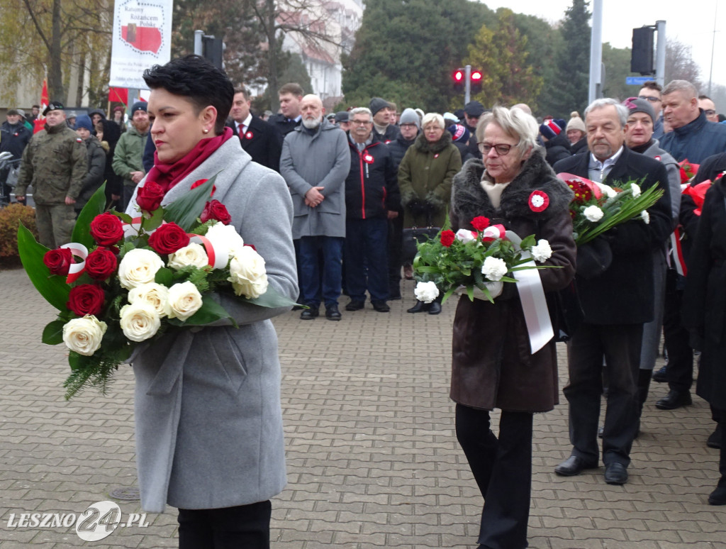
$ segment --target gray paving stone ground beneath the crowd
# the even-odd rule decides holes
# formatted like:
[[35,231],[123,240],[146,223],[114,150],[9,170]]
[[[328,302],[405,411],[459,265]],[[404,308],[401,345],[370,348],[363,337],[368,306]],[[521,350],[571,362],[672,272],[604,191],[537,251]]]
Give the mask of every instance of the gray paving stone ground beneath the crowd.
[[[177,546],[176,510],[147,515],[83,542],[70,527],[9,527],[20,513],[75,513],[136,485],[133,379],[122,367],[106,397],[70,402],[62,346],[40,343],[54,314],[22,270],[0,271],[0,548]],[[278,317],[289,483],[273,500],[278,549],[476,548],[481,496],[454,436],[448,397],[454,302],[438,317],[343,312],[340,322]],[[341,299],[341,304],[346,298]],[[560,387],[566,383],[560,351]],[[537,415],[529,521],[536,549],[726,548],[726,508],[706,504],[717,450],[704,444],[709,408],[656,410],[654,383],[634,444],[630,481],[603,481],[603,468],[563,478],[567,405]],[[115,500],[123,520],[138,501]]]

